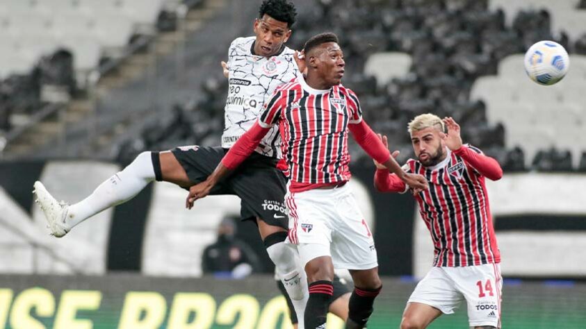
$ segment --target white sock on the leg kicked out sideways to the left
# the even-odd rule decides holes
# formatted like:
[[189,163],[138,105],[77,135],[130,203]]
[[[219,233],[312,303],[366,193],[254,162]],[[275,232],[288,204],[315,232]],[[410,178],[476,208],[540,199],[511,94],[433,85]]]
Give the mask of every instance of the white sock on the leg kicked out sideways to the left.
[[101,183],[86,199],[70,205],[65,222],[72,228],[102,210],[129,201],[154,179],[151,152],[140,153],[128,167]]

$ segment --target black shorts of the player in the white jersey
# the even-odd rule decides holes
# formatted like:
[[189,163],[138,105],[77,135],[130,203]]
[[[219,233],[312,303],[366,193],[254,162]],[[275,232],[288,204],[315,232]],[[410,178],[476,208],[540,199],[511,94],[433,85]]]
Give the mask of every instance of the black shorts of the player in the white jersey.
[[[227,151],[220,146],[185,146],[172,153],[195,185],[206,180]],[[277,162],[276,158],[254,152],[231,176],[218,183],[210,195],[236,195],[242,200],[243,221],[259,217],[269,225],[287,229],[284,205],[287,180],[277,169]]]

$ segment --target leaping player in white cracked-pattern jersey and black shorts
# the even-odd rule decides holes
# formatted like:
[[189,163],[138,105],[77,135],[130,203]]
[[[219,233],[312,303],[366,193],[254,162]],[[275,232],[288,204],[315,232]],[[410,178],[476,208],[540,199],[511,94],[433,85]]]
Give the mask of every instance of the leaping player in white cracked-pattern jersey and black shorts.
[[[229,48],[229,94],[225,107],[222,145],[183,146],[172,151],[143,152],[122,171],[104,181],[86,199],[58,203],[40,182],[35,194],[51,234],[62,237],[93,215],[133,198],[154,180],[190,187],[205,180],[227,150],[257,121],[275,88],[298,74],[295,51],[285,46],[295,22],[295,6],[286,0],[266,0],[254,21],[252,37],[238,37]],[[284,205],[286,178],[276,168],[278,130],[271,130],[234,179],[218,185],[212,194],[236,194],[242,200],[243,219],[256,221],[284,286],[302,317],[307,302],[307,278],[298,255],[287,246],[288,219]]]

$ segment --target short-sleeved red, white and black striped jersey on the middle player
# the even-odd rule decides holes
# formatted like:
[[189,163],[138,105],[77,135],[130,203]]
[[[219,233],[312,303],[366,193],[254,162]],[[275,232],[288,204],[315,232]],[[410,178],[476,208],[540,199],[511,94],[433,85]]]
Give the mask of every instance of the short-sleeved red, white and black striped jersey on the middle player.
[[352,90],[336,85],[315,90],[302,77],[277,87],[259,124],[279,124],[284,169],[291,190],[301,191],[350,179],[348,124],[358,124],[362,112]]

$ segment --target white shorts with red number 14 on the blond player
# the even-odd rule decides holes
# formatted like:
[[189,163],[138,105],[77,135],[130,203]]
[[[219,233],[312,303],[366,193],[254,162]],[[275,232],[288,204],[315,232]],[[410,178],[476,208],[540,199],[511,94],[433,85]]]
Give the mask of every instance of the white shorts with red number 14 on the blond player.
[[423,303],[452,314],[462,301],[468,305],[471,327],[500,328],[503,278],[500,264],[469,267],[433,267],[419,281],[407,303]]

